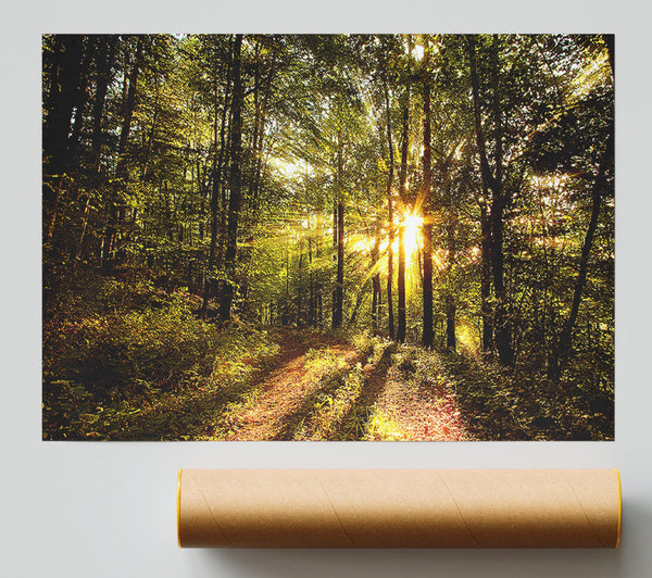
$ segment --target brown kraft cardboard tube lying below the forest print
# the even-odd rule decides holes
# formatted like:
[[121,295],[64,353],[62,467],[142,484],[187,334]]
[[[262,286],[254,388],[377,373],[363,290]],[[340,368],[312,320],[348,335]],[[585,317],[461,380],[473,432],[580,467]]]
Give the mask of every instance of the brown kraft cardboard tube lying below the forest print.
[[617,548],[617,469],[183,469],[180,546]]

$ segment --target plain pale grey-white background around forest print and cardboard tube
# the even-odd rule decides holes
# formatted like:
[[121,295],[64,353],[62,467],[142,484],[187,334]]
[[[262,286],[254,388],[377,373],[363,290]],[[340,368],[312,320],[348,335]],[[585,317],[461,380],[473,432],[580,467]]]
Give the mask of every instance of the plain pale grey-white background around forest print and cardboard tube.
[[[30,0],[2,10],[0,575],[652,576],[651,11],[635,0],[221,4]],[[615,442],[40,441],[40,34],[242,30],[616,33]],[[623,542],[618,551],[178,550],[178,467],[619,467]]]

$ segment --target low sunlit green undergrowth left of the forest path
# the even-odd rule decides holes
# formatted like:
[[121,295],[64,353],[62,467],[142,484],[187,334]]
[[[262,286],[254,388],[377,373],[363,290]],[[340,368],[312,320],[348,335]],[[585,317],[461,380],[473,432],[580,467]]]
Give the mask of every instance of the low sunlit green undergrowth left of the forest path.
[[[133,288],[115,278],[83,280],[62,298],[66,318],[47,328],[46,439],[189,436],[247,382],[244,360],[274,352],[254,327],[220,330],[199,319],[186,292],[145,280]],[[206,407],[206,400],[220,403]],[[196,404],[204,406],[193,413]]]

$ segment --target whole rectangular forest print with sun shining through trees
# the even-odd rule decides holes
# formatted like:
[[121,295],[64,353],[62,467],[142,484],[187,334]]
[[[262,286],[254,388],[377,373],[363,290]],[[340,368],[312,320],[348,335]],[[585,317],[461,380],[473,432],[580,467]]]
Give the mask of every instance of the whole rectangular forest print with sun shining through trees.
[[42,42],[42,439],[614,439],[613,35]]

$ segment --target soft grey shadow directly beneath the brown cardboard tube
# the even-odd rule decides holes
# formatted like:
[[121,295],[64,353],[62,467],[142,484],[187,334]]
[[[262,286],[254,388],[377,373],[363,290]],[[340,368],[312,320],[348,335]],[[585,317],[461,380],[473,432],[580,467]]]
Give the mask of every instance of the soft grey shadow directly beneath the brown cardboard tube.
[[198,555],[213,566],[212,576],[234,578],[644,576],[624,574],[624,550],[215,550]]

